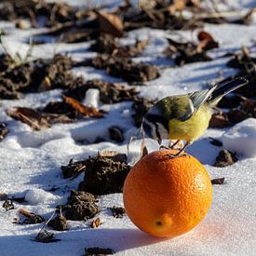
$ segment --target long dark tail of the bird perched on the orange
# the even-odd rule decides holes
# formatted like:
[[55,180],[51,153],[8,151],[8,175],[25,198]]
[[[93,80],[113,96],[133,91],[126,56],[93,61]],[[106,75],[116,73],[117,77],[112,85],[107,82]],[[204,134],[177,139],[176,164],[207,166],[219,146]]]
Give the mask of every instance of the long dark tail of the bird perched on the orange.
[[236,88],[241,88],[249,83],[249,75],[238,76],[234,80],[220,83],[211,93],[209,98],[210,105],[216,105],[219,101],[222,100],[222,97],[228,94],[229,92],[235,90]]

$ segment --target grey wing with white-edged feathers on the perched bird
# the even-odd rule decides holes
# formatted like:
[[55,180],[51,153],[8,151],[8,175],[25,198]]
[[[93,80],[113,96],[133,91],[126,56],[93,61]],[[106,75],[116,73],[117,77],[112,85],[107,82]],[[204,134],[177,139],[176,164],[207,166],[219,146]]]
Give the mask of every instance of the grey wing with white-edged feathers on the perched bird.
[[199,107],[202,106],[205,101],[209,100],[212,91],[216,87],[217,86],[215,85],[209,89],[202,89],[189,94],[189,104],[187,105],[186,112],[184,115],[179,117],[179,120],[184,122],[188,120],[192,115],[194,115]]

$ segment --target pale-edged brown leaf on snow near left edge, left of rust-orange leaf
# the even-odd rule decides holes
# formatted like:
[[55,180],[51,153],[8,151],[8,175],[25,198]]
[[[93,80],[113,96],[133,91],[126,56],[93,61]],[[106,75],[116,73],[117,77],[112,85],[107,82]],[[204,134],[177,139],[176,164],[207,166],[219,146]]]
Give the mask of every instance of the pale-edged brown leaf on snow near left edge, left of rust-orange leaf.
[[49,122],[41,113],[31,108],[18,107],[7,110],[7,115],[19,120],[22,123],[29,125],[34,130],[50,128]]

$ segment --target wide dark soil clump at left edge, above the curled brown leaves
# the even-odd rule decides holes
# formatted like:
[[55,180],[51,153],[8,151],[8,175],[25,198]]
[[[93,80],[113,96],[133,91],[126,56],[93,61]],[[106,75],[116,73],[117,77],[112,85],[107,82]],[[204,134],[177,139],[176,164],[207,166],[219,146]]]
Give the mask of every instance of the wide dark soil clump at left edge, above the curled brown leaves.
[[20,99],[22,93],[41,92],[54,88],[75,88],[84,83],[71,73],[73,61],[61,54],[49,60],[15,61],[7,54],[0,60],[0,99]]

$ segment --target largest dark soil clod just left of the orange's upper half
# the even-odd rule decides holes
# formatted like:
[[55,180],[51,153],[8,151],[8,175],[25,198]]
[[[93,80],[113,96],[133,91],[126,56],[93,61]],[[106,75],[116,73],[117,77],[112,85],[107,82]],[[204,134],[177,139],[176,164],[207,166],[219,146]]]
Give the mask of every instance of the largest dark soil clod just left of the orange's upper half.
[[109,157],[97,155],[89,157],[86,163],[84,182],[80,182],[78,190],[93,195],[121,193],[130,167]]

